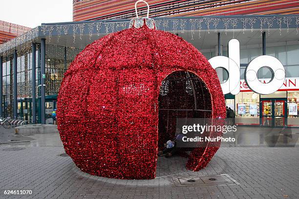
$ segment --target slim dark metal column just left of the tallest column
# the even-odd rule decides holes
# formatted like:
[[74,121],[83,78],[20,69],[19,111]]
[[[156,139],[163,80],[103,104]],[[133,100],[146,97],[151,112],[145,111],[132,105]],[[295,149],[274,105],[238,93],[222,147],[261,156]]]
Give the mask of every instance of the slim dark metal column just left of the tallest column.
[[31,44],[32,52],[32,123],[36,123],[36,44]]

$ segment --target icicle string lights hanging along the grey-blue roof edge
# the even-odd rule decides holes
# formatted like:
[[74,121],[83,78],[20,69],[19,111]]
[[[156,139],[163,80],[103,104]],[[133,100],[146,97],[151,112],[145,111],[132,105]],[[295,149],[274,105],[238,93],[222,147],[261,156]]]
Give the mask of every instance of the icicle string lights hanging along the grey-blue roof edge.
[[[262,24],[261,24],[262,22]],[[92,28],[93,25],[95,28]],[[61,39],[61,36],[70,34],[72,31],[73,42],[81,43],[82,40],[76,40],[76,36],[82,39],[82,36],[86,33],[89,34],[89,38],[91,38],[92,34],[97,34],[100,36],[100,33],[112,33],[115,31],[119,31],[120,29],[128,28],[129,21],[115,21],[115,22],[107,22],[107,21],[90,21],[78,24],[57,24],[57,25],[42,25],[32,30],[24,33],[23,35],[16,37],[12,40],[9,40],[0,45],[0,53],[8,51],[8,54],[12,54],[15,47],[21,45],[21,50],[28,48],[28,43],[34,42],[34,40],[38,37],[48,37],[47,42],[50,43],[52,36],[58,36],[57,42]],[[246,33],[247,25],[251,29],[251,33],[254,32],[254,29],[263,30],[264,28],[268,29],[268,35],[270,34],[270,29],[274,28],[273,24],[278,25],[279,35],[281,35],[282,29],[285,29],[286,33],[289,33],[290,28],[296,29],[296,34],[299,33],[299,17],[284,17],[284,16],[275,16],[275,17],[223,17],[223,18],[190,18],[190,19],[158,19],[158,23],[156,24],[156,28],[164,31],[173,31],[177,33],[178,30],[180,32],[185,32],[186,27],[191,27],[191,32],[198,31],[198,38],[201,38],[201,31],[207,30],[210,32],[211,25],[214,26],[214,32],[219,32],[221,30],[225,30],[227,32],[229,28],[233,30],[232,38],[235,37],[235,29],[243,29],[243,34]],[[266,27],[264,27],[266,26]],[[101,27],[103,29],[101,30]],[[42,34],[41,34],[42,33]],[[54,35],[53,35],[54,34]],[[53,43],[53,42],[52,42]]]

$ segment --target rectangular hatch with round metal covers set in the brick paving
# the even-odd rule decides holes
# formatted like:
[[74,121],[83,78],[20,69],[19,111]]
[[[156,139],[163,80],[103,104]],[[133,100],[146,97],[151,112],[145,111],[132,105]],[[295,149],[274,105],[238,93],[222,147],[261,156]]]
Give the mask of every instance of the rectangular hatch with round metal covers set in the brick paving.
[[211,186],[221,184],[239,184],[235,179],[227,174],[203,176],[203,177],[172,177],[174,185],[177,187],[193,187],[193,186]]

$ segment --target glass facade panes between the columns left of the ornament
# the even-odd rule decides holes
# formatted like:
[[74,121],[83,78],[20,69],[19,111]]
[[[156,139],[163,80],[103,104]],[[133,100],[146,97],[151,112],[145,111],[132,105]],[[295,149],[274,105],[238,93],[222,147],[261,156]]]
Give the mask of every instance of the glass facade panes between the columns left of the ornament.
[[[36,117],[41,116],[40,107],[40,67],[41,45],[37,44],[36,51]],[[45,82],[46,82],[46,119],[51,117],[56,107],[56,99],[64,72],[81,49],[46,45]],[[2,93],[3,117],[13,118],[13,56],[3,58],[2,64]],[[24,49],[17,54],[17,100],[18,119],[32,122],[32,51]],[[52,123],[52,120],[47,120]]]

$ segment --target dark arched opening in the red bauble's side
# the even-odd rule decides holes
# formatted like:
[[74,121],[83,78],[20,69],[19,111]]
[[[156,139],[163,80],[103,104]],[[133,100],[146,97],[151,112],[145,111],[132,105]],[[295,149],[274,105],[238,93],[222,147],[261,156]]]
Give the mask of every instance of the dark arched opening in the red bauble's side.
[[[163,149],[167,140],[173,140],[182,132],[177,119],[212,118],[211,94],[196,74],[175,71],[160,86],[159,93],[158,147]],[[190,148],[186,148],[190,150]]]

